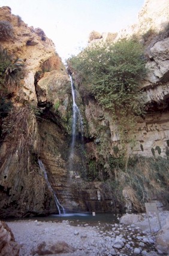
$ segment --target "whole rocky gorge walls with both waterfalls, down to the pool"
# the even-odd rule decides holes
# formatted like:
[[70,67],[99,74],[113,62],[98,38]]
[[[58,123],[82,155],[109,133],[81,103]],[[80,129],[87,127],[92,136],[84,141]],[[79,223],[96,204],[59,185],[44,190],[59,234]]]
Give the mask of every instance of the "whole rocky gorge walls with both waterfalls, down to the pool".
[[[122,134],[73,59],[66,69],[42,29],[26,25],[10,7],[0,8],[0,23],[11,28],[11,35],[0,37],[1,218],[141,212],[149,200],[168,206],[168,17],[167,1],[153,8],[146,0],[137,25],[90,34],[89,50],[131,38],[143,46],[146,74],[138,81],[138,101],[144,111]],[[14,82],[7,70],[10,79],[18,74]]]

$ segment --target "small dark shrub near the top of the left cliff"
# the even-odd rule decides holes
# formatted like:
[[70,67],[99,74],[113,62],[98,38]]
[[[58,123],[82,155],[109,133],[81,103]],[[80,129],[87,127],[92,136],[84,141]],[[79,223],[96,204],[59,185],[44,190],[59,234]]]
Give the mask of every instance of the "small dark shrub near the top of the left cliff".
[[13,37],[13,26],[7,20],[0,21],[0,41],[5,41]]

